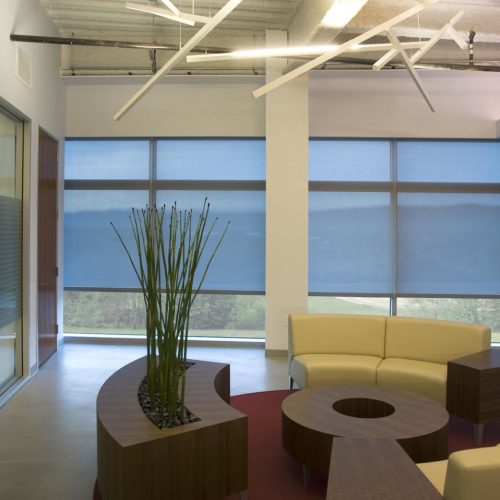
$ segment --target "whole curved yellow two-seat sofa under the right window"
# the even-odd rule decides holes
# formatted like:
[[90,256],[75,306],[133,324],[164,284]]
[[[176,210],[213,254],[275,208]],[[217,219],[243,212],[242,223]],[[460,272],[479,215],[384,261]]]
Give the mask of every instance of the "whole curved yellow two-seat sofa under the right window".
[[490,349],[485,325],[398,316],[291,314],[290,387],[378,384],[446,405],[448,361]]

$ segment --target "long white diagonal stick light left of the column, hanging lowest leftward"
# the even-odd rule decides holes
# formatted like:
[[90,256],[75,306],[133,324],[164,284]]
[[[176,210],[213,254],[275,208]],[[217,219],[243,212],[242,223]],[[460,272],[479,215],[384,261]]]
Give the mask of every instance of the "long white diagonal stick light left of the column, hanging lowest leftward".
[[[164,2],[164,0],[162,0]],[[113,117],[115,121],[118,121],[122,116],[130,110],[130,108],[141,99],[151,87],[170,69],[172,69],[186,54],[188,54],[191,49],[196,47],[203,38],[205,38],[223,19],[225,19],[242,0],[229,0],[218,12],[210,18],[210,21],[206,23],[200,30],[195,33],[189,41],[187,41],[184,46],[176,52],[167,63],[158,72],[151,77],[145,85],[143,85],[115,114]]]

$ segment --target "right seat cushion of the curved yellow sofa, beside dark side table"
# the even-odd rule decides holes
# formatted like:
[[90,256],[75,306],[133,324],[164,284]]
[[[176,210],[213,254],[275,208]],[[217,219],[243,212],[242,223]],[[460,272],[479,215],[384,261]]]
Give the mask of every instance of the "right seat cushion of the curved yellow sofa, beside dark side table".
[[446,405],[447,366],[413,359],[388,358],[377,368],[377,384],[416,392]]

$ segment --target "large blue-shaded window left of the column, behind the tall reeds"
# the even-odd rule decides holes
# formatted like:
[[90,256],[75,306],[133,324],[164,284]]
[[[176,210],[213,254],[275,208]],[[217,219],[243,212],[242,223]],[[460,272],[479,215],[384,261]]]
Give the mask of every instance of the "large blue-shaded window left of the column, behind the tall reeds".
[[132,207],[205,197],[225,239],[198,296],[191,336],[264,336],[265,144],[257,139],[68,140],[66,333],[144,334],[144,304],[111,222],[132,243]]

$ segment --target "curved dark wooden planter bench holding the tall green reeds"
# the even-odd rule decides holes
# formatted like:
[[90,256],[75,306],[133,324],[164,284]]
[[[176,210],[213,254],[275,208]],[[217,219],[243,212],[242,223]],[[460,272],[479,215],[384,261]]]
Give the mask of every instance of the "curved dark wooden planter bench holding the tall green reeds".
[[146,358],[97,396],[97,480],[103,500],[220,499],[247,489],[247,416],[229,406],[229,365],[194,361],[185,405],[201,421],[158,429],[137,390]]

